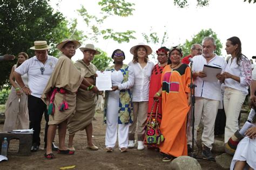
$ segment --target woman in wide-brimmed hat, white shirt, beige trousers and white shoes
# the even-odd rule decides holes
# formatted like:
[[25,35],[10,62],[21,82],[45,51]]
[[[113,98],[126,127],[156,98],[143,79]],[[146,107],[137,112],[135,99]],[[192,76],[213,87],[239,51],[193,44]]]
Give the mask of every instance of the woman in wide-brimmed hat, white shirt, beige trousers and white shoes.
[[[149,83],[154,63],[149,61],[152,53],[150,46],[139,44],[130,49],[133,60],[129,66],[134,70],[134,86],[132,88],[133,123],[129,128],[129,146],[135,145],[135,132],[138,134],[138,150],[143,150],[145,123],[147,119],[147,102],[149,101]],[[138,122],[138,127],[136,127]]]

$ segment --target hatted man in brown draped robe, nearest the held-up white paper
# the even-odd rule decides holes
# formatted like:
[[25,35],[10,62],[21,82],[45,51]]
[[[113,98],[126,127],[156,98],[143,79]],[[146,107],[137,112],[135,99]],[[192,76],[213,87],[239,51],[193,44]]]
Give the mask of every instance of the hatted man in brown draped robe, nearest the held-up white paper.
[[[96,71],[98,70],[91,61],[95,55],[100,54],[95,49],[93,44],[86,44],[85,47],[80,47],[80,51],[83,52],[84,58],[75,62],[76,68],[80,71],[85,70],[84,78],[90,83],[96,83]],[[76,103],[75,116],[71,118],[68,124],[69,130],[69,149],[75,150],[73,147],[73,138],[75,133],[79,130],[86,131],[87,148],[91,150],[98,150],[98,147],[92,143],[92,119],[95,115],[95,108],[97,104],[97,96],[93,91],[83,90],[81,88],[77,91],[77,103]]]

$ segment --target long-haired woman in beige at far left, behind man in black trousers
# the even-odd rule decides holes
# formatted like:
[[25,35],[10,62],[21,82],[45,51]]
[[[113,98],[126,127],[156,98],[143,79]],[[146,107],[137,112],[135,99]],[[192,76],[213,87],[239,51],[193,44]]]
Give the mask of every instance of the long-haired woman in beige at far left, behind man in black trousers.
[[[4,131],[29,128],[28,96],[24,94],[21,87],[18,86],[18,83],[14,80],[13,74],[14,70],[28,58],[28,54],[24,52],[19,53],[17,64],[11,69],[9,80],[12,87],[11,93],[6,102]],[[22,80],[25,86],[28,86],[28,75],[24,74],[22,76]]]

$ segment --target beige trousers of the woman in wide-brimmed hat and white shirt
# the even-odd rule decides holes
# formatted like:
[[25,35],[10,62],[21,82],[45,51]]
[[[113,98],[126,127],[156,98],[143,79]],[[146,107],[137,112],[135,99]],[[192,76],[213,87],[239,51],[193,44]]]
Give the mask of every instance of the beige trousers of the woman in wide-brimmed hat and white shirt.
[[[147,102],[133,103],[133,123],[129,127],[129,140],[134,140],[137,129],[138,140],[143,141],[145,135],[145,124],[147,120]],[[138,127],[137,127],[138,124]]]

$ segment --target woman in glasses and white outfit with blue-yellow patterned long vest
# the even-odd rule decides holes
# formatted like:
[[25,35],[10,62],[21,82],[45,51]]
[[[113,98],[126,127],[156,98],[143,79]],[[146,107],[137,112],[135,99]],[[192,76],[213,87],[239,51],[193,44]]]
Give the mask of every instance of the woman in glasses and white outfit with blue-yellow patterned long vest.
[[124,52],[116,49],[112,54],[114,65],[107,68],[111,71],[112,91],[106,91],[105,116],[106,123],[106,152],[112,152],[116,145],[121,152],[126,152],[128,147],[129,125],[132,123],[132,94],[134,73],[131,67],[125,65]]

